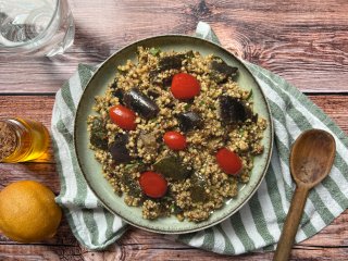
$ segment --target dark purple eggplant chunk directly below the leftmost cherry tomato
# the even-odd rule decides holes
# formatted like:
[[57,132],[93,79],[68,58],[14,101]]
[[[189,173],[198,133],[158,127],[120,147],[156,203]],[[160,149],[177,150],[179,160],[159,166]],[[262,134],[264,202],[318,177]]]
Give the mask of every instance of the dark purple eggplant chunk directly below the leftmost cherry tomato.
[[109,152],[111,153],[112,159],[115,161],[115,163],[128,163],[133,160],[126,147],[127,142],[127,134],[117,134],[114,142],[110,145]]

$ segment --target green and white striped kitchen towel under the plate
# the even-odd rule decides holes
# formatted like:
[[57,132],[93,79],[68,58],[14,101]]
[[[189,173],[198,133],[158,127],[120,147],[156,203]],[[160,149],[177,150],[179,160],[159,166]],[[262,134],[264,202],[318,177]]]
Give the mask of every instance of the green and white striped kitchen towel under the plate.
[[[219,44],[206,23],[198,24],[196,36]],[[288,167],[290,145],[304,129],[321,128],[332,133],[337,154],[330,176],[309,195],[296,241],[313,236],[348,206],[347,136],[294,86],[264,69],[248,62],[245,64],[266,94],[274,121],[274,151],[265,178],[248,203],[226,221],[201,232],[166,236],[225,254],[274,249],[295,189]],[[84,181],[74,152],[74,115],[92,74],[92,67],[79,65],[72,78],[57,92],[52,136],[61,179],[61,194],[57,202],[63,208],[79,243],[89,249],[103,249],[123,235],[126,224],[102,208]]]

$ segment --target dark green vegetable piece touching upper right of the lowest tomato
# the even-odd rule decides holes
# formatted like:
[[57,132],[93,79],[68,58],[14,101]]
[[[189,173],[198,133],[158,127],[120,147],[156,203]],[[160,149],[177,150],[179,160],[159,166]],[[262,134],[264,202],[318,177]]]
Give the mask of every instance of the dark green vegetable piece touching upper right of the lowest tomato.
[[173,178],[174,181],[182,181],[189,176],[190,170],[185,165],[179,158],[170,156],[163,158],[153,164],[157,172],[165,177]]

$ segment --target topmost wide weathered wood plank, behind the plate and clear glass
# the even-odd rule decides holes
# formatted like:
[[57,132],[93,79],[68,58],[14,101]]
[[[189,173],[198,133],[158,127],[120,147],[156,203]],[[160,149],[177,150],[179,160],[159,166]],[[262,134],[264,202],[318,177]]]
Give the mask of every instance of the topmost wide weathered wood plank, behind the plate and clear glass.
[[53,61],[0,53],[1,92],[54,92],[77,63],[99,63],[145,37],[190,35],[200,20],[212,25],[229,51],[278,73],[303,91],[348,91],[344,0],[105,0],[101,4],[74,0],[71,5],[74,46]]

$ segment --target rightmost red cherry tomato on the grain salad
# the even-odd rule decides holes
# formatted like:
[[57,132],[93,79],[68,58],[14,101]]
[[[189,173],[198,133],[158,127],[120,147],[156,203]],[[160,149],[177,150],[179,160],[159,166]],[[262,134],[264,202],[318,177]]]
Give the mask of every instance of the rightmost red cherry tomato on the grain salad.
[[216,153],[216,160],[219,166],[226,173],[232,175],[238,175],[241,171],[241,159],[235,152],[222,148]]

